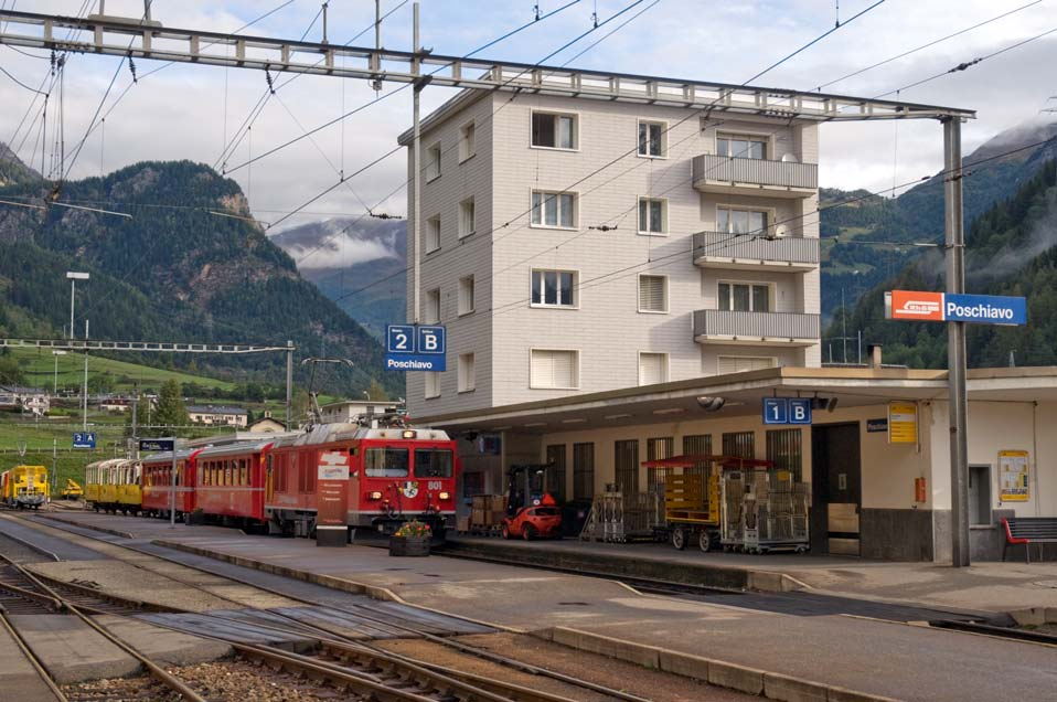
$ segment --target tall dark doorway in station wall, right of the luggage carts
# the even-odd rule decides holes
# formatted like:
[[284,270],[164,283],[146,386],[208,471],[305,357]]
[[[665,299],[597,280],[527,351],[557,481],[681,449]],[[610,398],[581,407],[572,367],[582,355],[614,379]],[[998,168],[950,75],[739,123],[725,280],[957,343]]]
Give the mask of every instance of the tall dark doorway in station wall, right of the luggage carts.
[[860,555],[862,506],[858,423],[812,426],[812,552]]

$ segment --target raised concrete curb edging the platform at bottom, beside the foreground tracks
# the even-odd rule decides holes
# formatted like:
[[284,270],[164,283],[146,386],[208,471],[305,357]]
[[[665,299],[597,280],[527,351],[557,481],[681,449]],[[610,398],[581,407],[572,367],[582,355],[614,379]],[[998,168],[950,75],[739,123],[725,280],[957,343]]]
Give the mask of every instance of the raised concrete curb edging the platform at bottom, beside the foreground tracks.
[[726,661],[647,646],[568,627],[531,631],[532,636],[579,651],[608,656],[630,663],[692,678],[720,688],[782,702],[897,702],[836,685],[747,668]]

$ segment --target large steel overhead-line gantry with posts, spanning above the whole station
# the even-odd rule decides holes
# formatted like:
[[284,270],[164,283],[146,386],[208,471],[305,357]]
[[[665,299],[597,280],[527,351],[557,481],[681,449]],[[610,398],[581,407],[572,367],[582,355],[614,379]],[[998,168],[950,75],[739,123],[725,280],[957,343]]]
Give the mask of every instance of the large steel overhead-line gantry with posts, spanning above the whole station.
[[[163,26],[148,12],[140,18],[88,15],[87,18],[0,10],[0,44],[54,51],[128,56],[179,63],[281,71],[310,75],[384,81],[415,87],[413,153],[415,178],[419,169],[420,139],[418,93],[427,85],[452,88],[508,91],[597,100],[617,100],[700,109],[704,116],[728,113],[782,119],[869,121],[879,119],[937,119],[943,125],[946,255],[948,290],[962,289],[964,280],[964,232],[962,222],[961,123],[975,111],[901,100],[862,98],[821,92],[791,91],[750,85],[683,81],[565,66],[526,64],[491,59],[435,54],[418,45],[418,3],[415,3],[414,51],[335,45],[325,41],[298,40],[209,32]],[[149,8],[149,6],[148,6]],[[325,3],[324,3],[325,8]],[[324,17],[325,24],[325,17]],[[90,41],[63,39],[67,30],[90,33]],[[72,31],[71,31],[72,30]],[[377,40],[376,40],[377,41]],[[425,67],[430,67],[424,72]],[[417,200],[417,180],[414,192]],[[416,208],[417,210],[417,208]],[[410,234],[418,256],[419,217]],[[414,266],[415,297],[418,297],[418,266]],[[415,316],[418,315],[415,305]],[[417,321],[417,320],[416,320]],[[949,397],[951,402],[952,555],[954,566],[969,565],[968,475],[965,439],[964,327],[950,328],[948,349]],[[56,347],[58,348],[58,347]],[[288,368],[289,375],[289,368]],[[289,392],[289,391],[288,391]],[[289,407],[289,401],[287,403]],[[289,413],[289,410],[288,410]]]

